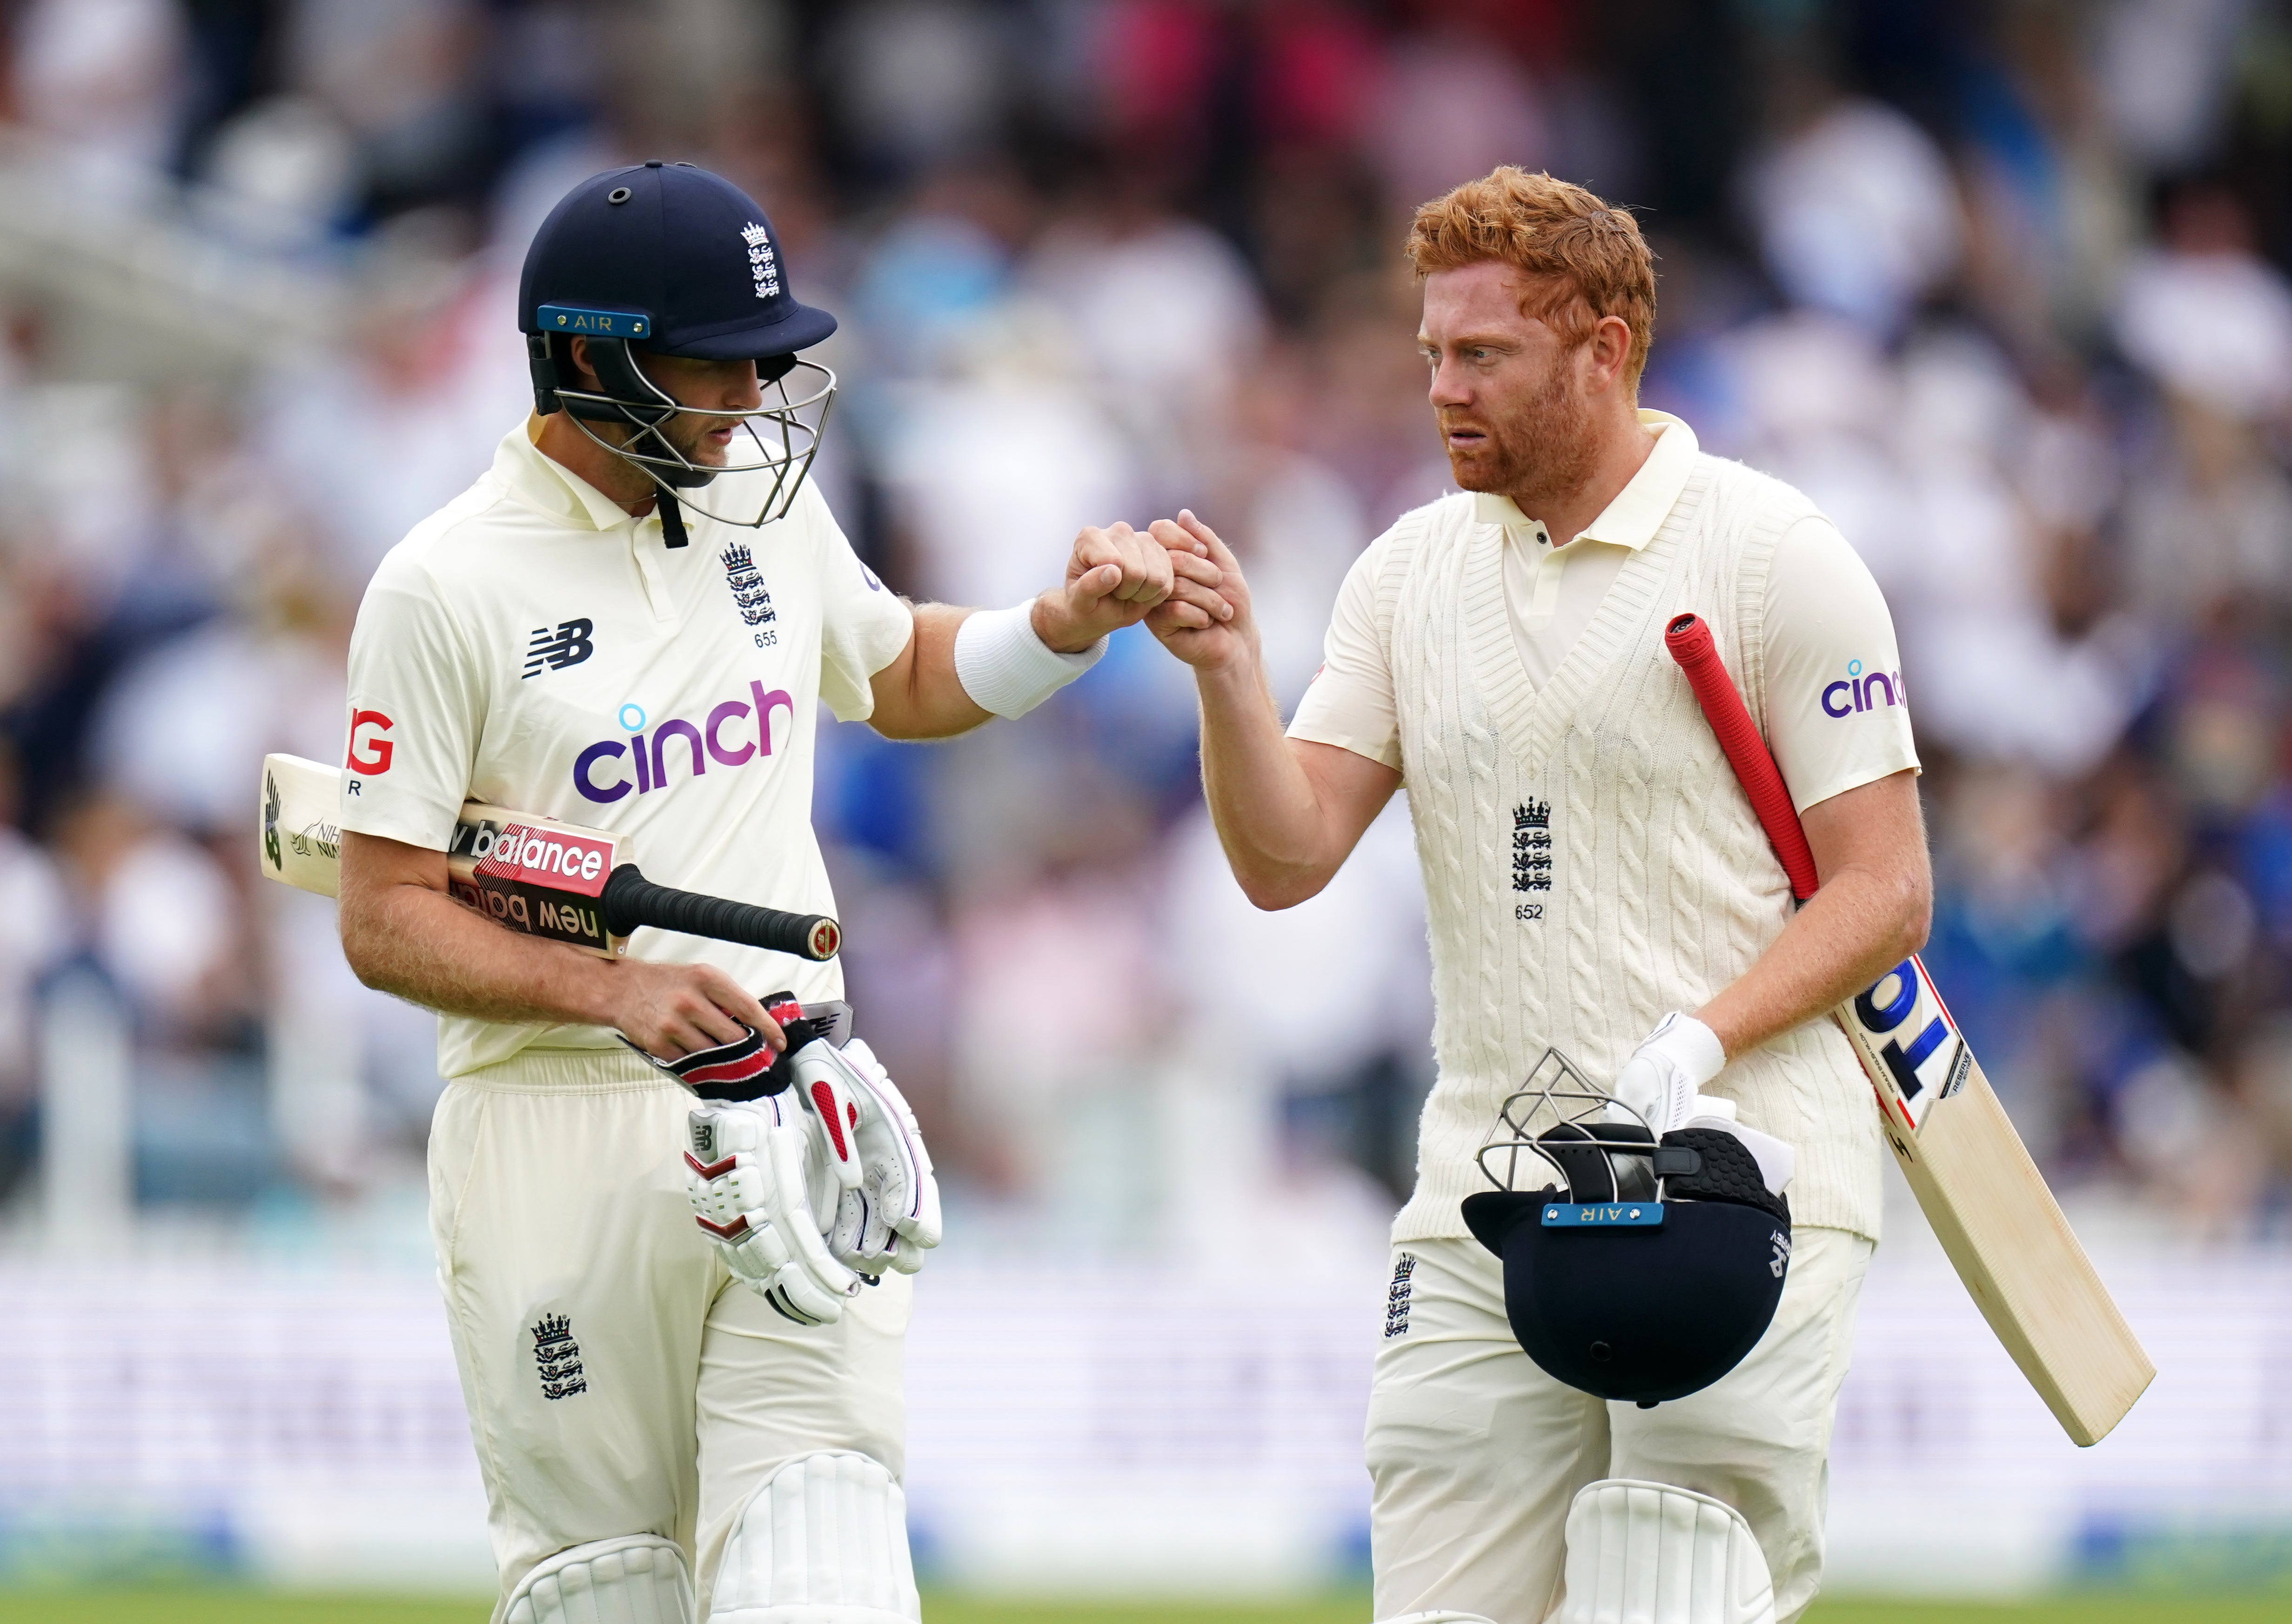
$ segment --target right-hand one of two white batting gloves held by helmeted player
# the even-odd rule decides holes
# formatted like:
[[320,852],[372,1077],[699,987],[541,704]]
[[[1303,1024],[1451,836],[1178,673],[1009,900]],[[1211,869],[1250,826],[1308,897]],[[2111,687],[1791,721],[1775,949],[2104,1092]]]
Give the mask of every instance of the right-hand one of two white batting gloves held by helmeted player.
[[841,1049],[814,1040],[788,1065],[795,1072],[788,1093],[802,1095],[821,1122],[827,1166],[841,1187],[827,1225],[830,1255],[869,1278],[885,1269],[915,1274],[940,1244],[940,1182],[915,1111],[859,1038]]

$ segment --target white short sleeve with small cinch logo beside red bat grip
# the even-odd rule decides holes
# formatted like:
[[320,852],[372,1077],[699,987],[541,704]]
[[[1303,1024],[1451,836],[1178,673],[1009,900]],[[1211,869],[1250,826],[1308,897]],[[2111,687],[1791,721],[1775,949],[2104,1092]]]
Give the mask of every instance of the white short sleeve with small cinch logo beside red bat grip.
[[1802,813],[1918,770],[1893,616],[1820,515],[1783,531],[1767,575],[1767,747]]

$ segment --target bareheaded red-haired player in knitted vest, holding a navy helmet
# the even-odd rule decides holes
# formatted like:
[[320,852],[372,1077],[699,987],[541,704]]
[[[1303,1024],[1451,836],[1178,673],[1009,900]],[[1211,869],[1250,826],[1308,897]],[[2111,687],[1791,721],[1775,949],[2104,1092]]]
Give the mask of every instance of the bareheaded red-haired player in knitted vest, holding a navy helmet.
[[[1870,1090],[1820,1017],[1932,896],[1893,623],[1813,502],[1639,410],[1625,211],[1504,167],[1407,252],[1460,490],[1355,563],[1288,726],[1233,557],[1153,527],[1224,566],[1226,614],[1178,596],[1155,632],[1251,900],[1320,891],[1403,783],[1416,825],[1439,1072],[1368,1397],[1375,1617],[1790,1624],[1879,1228]],[[1806,907],[1666,651],[1687,614],[1804,820]]]

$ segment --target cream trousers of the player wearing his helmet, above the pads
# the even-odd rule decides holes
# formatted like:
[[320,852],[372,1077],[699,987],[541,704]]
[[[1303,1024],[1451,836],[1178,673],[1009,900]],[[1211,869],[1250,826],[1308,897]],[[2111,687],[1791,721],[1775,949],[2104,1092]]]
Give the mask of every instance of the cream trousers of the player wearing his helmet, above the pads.
[[527,1051],[447,1083],[431,1122],[431,1239],[486,1521],[509,1592],[543,1558],[674,1539],[701,1617],[749,1496],[798,1454],[905,1471],[889,1274],[832,1326],[731,1278],[685,1205],[692,1097],[635,1056]]

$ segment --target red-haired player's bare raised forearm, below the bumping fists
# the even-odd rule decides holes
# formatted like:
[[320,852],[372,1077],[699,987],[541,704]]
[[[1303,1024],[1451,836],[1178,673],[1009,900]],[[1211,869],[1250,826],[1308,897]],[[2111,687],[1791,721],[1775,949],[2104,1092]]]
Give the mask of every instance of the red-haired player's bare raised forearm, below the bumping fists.
[[1258,907],[1295,907],[1320,893],[1343,861],[1313,781],[1281,733],[1258,660],[1196,671],[1201,788],[1242,893]]

